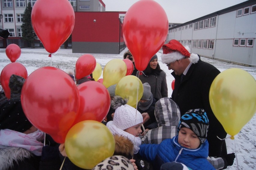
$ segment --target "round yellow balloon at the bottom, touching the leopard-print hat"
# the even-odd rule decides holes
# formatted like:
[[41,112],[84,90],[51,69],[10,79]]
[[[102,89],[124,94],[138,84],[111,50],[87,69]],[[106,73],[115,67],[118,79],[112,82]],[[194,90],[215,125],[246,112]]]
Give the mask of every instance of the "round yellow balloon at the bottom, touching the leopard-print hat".
[[67,133],[65,150],[68,158],[75,165],[92,169],[114,154],[115,140],[103,123],[84,120],[72,126]]

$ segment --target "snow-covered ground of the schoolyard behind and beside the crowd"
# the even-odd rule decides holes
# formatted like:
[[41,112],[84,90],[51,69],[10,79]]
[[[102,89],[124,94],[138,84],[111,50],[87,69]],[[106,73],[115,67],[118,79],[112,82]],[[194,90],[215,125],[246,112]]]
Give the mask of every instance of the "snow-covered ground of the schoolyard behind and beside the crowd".
[[[104,66],[112,59],[123,59],[123,53],[121,54],[92,54],[102,66],[102,71]],[[158,61],[162,70],[166,72],[166,79],[168,84],[168,96],[172,94],[171,83],[174,78],[171,75],[171,70],[168,70],[167,66],[161,62],[160,54],[161,50],[157,53]],[[65,71],[66,69],[75,68],[75,63],[77,59],[84,53],[72,53],[72,49],[60,49],[52,57],[48,57],[48,52],[43,48],[22,48],[21,56],[17,59],[16,62],[23,64],[28,74],[35,71],[37,68],[44,66],[53,66]],[[235,65],[227,62],[221,62],[218,60],[201,58],[203,61],[208,62],[218,68],[220,71],[224,71],[228,68],[241,68],[251,74],[254,79],[256,79],[256,68],[244,67],[240,65]],[[5,49],[0,49],[0,70],[11,63],[8,57],[5,54]],[[102,76],[100,77],[102,78]],[[241,113],[243,114],[243,113]],[[230,138],[226,139],[228,153],[236,152],[237,160],[235,159],[233,166],[228,167],[227,169],[256,169],[256,116],[242,128],[242,130],[235,135],[235,140]],[[228,135],[229,136],[229,135]],[[236,147],[235,147],[236,145]],[[236,148],[236,149],[235,149]],[[237,167],[238,165],[238,167]]]

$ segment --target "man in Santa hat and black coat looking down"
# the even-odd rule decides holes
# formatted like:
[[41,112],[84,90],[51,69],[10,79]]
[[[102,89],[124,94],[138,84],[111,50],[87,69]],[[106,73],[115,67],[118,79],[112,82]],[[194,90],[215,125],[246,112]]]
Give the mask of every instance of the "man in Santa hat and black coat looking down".
[[[190,54],[189,47],[184,47],[176,40],[163,45],[162,62],[173,70],[175,88],[172,100],[180,108],[181,116],[190,109],[204,108],[209,118],[209,156],[221,157],[227,154],[225,132],[221,123],[212,112],[209,103],[209,90],[212,81],[220,73],[213,65],[203,62],[197,54]],[[218,136],[218,137],[217,137]]]

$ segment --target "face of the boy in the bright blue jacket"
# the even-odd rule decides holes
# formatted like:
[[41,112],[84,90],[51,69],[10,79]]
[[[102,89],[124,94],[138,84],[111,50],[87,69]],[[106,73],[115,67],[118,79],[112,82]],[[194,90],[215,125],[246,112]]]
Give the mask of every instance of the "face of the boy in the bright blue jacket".
[[191,129],[182,127],[179,131],[178,143],[182,147],[197,149],[200,145],[200,140]]

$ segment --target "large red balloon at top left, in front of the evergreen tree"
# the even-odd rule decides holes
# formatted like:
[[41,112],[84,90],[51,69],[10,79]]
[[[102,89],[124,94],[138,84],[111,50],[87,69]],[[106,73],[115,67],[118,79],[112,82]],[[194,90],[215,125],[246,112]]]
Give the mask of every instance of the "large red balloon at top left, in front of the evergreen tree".
[[55,53],[74,29],[75,12],[67,0],[37,0],[31,22],[45,50]]

